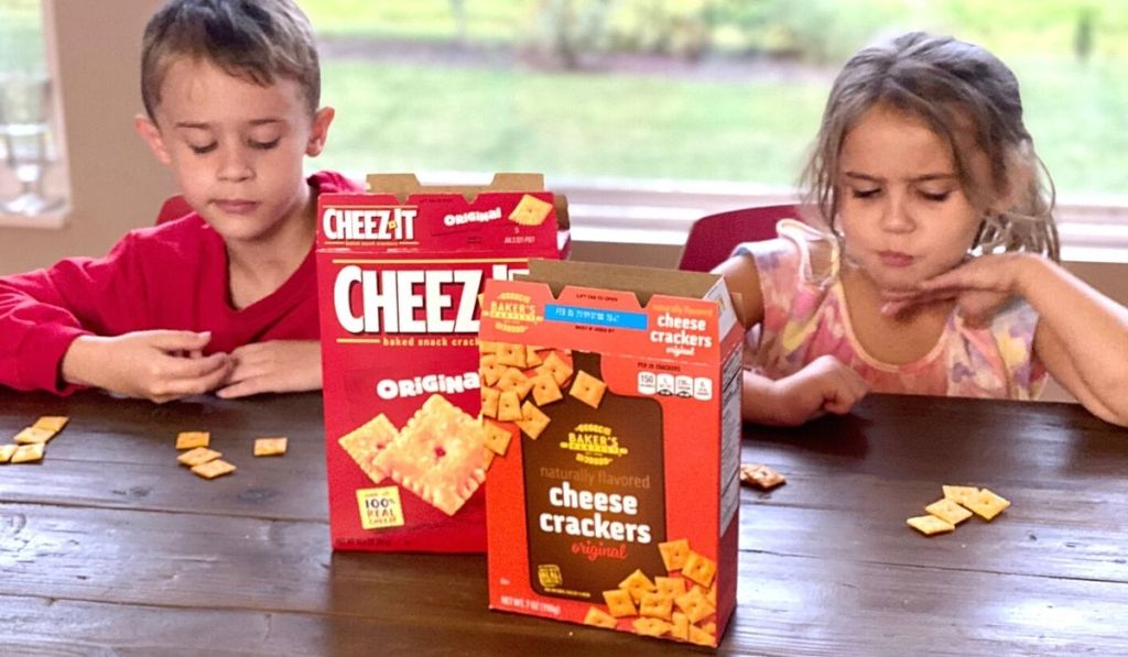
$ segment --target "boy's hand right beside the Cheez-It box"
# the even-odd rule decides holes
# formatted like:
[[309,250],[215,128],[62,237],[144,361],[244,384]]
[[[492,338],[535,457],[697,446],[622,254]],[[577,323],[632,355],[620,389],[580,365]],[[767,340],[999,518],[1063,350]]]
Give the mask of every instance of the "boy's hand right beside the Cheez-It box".
[[235,366],[224,387],[224,399],[261,392],[300,392],[321,388],[321,345],[317,340],[271,340],[244,345],[231,352]]

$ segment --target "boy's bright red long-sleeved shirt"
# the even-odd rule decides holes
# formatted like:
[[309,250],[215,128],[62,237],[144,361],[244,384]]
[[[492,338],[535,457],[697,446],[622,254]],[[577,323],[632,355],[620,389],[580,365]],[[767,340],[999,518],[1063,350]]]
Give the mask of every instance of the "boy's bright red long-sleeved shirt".
[[[309,177],[316,194],[362,192],[344,176]],[[68,258],[0,277],[0,385],[67,394],[59,375],[83,335],[170,329],[212,332],[206,353],[266,340],[318,338],[314,248],[268,296],[231,307],[222,238],[192,213],[130,231],[104,258]]]

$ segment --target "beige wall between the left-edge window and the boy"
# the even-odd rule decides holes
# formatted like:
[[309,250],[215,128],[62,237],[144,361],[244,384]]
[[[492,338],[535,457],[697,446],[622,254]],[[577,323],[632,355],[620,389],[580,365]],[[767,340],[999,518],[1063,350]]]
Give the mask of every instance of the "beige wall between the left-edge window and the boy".
[[[100,256],[147,225],[171,176],[133,132],[142,110],[141,33],[160,0],[43,0],[49,68],[62,106],[71,212],[61,229],[0,225],[0,274]],[[54,47],[58,44],[58,47]]]

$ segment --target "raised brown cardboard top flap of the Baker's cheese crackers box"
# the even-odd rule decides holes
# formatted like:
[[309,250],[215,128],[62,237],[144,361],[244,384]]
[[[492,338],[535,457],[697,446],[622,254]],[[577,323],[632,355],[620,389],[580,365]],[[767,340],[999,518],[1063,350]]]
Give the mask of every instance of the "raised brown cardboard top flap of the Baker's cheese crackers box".
[[654,294],[704,299],[721,276],[658,267],[531,259],[529,273],[517,278],[545,283],[557,296],[570,285],[629,292],[645,307]]

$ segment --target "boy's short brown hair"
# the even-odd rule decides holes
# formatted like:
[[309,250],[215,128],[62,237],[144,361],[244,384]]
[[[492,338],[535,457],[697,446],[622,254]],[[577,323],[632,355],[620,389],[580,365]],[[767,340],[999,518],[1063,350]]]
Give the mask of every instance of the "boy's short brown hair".
[[206,60],[263,87],[276,77],[296,80],[310,113],[317,110],[321,73],[309,19],[293,0],[170,0],[146,26],[141,46],[141,99],[156,118],[160,87],[177,57]]

